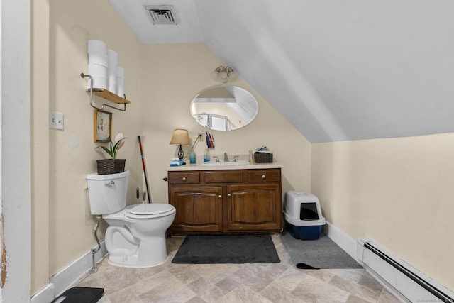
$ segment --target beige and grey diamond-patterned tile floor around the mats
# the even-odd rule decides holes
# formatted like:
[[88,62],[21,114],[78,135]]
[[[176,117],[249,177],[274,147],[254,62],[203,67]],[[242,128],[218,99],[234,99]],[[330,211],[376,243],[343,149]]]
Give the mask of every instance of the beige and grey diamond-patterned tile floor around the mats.
[[173,264],[184,237],[167,239],[167,261],[154,268],[121,268],[107,258],[77,286],[104,287],[99,303],[145,302],[400,302],[363,269],[299,270],[279,235],[281,263]]

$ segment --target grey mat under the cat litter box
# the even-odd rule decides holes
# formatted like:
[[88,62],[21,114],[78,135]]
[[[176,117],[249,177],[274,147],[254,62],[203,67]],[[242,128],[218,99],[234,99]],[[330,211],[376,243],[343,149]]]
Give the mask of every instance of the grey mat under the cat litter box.
[[362,268],[355,259],[323,233],[317,240],[300,240],[284,231],[281,240],[295,264],[316,268]]

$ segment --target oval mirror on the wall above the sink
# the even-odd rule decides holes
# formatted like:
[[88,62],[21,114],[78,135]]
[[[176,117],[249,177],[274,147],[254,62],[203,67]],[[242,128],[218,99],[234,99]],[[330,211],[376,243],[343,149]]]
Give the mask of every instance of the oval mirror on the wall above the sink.
[[242,87],[209,87],[192,99],[191,114],[201,126],[215,131],[232,131],[255,119],[258,102]]

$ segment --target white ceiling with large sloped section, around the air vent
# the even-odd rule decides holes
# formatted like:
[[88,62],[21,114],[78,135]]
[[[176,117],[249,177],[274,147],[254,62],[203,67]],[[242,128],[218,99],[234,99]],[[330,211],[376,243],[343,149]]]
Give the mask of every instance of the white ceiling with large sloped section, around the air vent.
[[454,131],[454,1],[109,2],[144,44],[209,45],[312,143]]

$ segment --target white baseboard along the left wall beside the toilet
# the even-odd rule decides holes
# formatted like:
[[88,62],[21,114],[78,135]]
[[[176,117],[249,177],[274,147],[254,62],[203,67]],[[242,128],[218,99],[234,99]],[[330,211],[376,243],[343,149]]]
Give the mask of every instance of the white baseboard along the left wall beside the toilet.
[[[97,248],[95,246],[94,248]],[[98,263],[104,256],[107,255],[106,245],[104,241],[101,243],[101,250],[95,255],[95,262]],[[50,277],[49,284],[40,290],[37,294],[31,297],[31,303],[49,303],[53,299],[60,296],[65,290],[69,289],[74,285],[74,282],[79,280],[80,277],[87,274],[92,269],[92,251],[89,250],[87,253],[82,255],[80,258],[75,260],[73,263],[68,265],[66,268],[60,270],[55,275]]]

